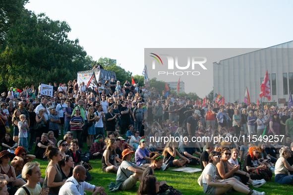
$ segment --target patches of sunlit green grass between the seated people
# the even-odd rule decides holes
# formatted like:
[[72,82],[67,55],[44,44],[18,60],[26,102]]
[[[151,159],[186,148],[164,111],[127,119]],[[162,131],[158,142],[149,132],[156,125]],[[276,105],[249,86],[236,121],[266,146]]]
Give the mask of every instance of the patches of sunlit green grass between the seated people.
[[[13,134],[12,134],[13,135]],[[59,136],[61,138],[61,136]],[[84,142],[84,146],[86,146],[86,142]],[[87,151],[86,148],[82,148],[82,151]],[[33,154],[33,151],[30,152]],[[43,161],[40,159],[36,159],[34,161],[38,161],[41,165],[41,172],[42,178],[45,179],[45,170],[47,168],[48,162]],[[137,183],[136,187],[132,188],[129,191],[118,191],[117,193],[108,193],[107,186],[111,183],[116,181],[116,174],[112,173],[104,173],[102,171],[102,164],[101,160],[95,159],[90,160],[90,164],[92,165],[93,169],[90,170],[90,174],[92,176],[92,180],[88,183],[92,185],[99,186],[98,184],[102,185],[108,195],[136,195],[139,182]],[[190,166],[200,168],[200,166]],[[176,172],[171,171],[172,168],[168,169],[167,171],[155,171],[155,176],[157,177],[158,181],[167,181],[167,184],[173,186],[176,190],[179,190],[183,195],[204,195],[202,187],[200,187],[197,183],[197,179],[200,176],[201,172],[197,173],[184,173],[184,172]],[[260,188],[252,188],[251,185],[249,187],[252,190],[257,190],[260,192],[266,192],[266,195],[293,195],[293,186],[291,185],[280,185],[274,182],[274,175],[271,179],[271,182],[267,182]],[[87,195],[91,195],[91,192],[86,192]],[[230,195],[242,195],[241,193],[230,193]]]

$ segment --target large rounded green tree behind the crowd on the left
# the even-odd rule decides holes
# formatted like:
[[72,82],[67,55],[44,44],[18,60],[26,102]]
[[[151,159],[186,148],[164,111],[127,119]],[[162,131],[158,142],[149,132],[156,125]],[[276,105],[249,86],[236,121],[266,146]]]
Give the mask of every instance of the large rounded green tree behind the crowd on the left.
[[7,33],[0,55],[0,83],[6,89],[26,85],[68,82],[85,70],[86,51],[79,40],[68,39],[71,29],[64,21],[53,21],[44,13],[24,10]]

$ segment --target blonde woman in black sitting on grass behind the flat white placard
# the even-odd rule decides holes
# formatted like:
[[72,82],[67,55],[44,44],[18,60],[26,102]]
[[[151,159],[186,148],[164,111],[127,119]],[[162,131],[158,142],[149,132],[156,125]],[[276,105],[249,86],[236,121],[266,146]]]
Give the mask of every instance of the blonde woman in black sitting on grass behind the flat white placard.
[[[178,143],[170,139],[170,142],[167,143],[164,151],[163,151],[163,156],[165,156],[165,162],[168,163],[170,167],[183,167],[188,165],[190,160],[186,158],[185,156],[181,155],[178,150],[176,149],[178,147]],[[179,157],[179,159],[175,159],[176,156]],[[185,164],[187,162],[187,164]]]

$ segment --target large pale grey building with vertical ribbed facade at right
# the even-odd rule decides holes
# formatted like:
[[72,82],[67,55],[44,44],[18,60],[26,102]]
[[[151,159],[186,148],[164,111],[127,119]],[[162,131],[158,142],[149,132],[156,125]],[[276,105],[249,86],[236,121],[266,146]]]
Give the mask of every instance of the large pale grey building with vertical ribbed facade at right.
[[293,93],[293,41],[214,62],[214,94],[225,96],[228,102],[242,102],[247,87],[250,101],[256,103],[267,70],[271,100],[262,101],[284,106],[279,101],[285,98],[287,105]]

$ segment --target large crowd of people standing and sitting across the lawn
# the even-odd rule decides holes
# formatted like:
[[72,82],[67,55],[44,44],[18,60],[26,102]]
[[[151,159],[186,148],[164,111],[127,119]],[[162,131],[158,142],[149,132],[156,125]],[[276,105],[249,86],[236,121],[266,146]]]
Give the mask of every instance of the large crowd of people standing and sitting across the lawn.
[[[103,172],[117,175],[109,192],[127,191],[140,181],[139,195],[172,194],[155,171],[189,165],[200,165],[198,182],[208,195],[264,195],[249,185],[259,188],[273,174],[276,183],[293,184],[293,108],[198,104],[114,79],[92,91],[76,79],[67,85],[55,82],[52,97],[34,86],[2,93],[0,180],[3,186],[23,186],[17,195],[106,195],[103,187],[85,182],[95,158]],[[28,154],[33,146],[34,155]],[[34,159],[48,161],[45,180]]]

